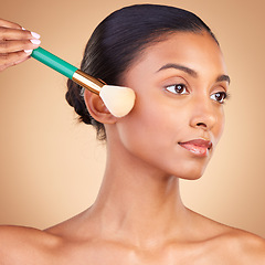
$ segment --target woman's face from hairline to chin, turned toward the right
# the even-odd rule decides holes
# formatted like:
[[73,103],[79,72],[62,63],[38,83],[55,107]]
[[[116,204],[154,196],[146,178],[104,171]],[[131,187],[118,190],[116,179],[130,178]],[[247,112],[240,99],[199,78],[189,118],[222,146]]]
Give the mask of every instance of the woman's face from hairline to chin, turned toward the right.
[[177,32],[147,47],[125,73],[137,95],[116,124],[120,147],[145,167],[168,176],[202,176],[224,127],[229,76],[208,33]]

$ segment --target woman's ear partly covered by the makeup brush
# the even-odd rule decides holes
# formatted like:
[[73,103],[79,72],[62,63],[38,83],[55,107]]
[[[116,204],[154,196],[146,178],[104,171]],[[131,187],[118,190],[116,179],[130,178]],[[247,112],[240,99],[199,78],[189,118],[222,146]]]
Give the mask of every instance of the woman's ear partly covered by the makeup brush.
[[102,124],[115,124],[117,117],[115,117],[105,106],[103,99],[95,93],[85,89],[84,99],[86,108],[91,116]]

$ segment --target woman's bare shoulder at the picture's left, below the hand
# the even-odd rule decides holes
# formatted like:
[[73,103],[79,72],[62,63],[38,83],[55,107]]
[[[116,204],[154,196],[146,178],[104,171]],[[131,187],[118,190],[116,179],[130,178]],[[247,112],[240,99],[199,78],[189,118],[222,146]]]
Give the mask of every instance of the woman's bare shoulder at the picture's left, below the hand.
[[49,256],[60,242],[60,237],[41,230],[0,225],[0,264],[30,264],[33,257],[36,264],[38,258]]

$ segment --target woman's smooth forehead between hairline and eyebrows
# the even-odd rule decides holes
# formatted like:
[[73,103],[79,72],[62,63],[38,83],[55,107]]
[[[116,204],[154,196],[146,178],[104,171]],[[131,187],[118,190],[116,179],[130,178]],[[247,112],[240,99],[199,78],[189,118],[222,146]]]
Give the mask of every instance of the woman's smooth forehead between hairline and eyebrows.
[[167,34],[142,51],[129,72],[156,73],[166,64],[176,63],[199,74],[226,74],[220,46],[209,33],[177,32]]

